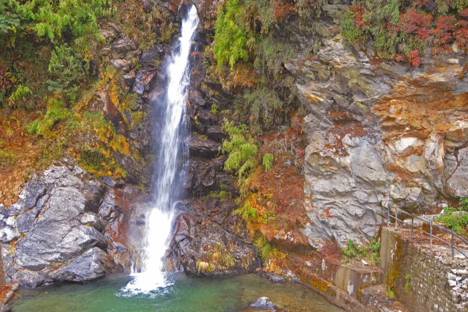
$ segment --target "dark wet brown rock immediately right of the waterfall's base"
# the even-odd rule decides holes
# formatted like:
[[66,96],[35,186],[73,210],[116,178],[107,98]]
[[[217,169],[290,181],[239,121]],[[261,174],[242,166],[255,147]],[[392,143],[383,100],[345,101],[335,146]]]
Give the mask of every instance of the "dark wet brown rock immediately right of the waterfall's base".
[[[221,276],[252,272],[261,265],[256,249],[230,231],[234,224],[232,200],[186,201],[187,213],[178,216],[166,259],[167,267],[188,274]],[[245,234],[245,233],[244,233]]]

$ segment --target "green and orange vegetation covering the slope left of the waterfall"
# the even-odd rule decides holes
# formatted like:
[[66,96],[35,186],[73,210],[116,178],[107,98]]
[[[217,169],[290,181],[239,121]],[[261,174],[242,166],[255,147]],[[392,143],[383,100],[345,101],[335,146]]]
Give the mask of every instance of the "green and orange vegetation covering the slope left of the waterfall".
[[[170,38],[172,20],[166,8],[144,10],[135,0],[0,1],[0,203],[12,203],[32,172],[64,156],[95,176],[116,178],[126,175],[123,157],[146,163],[127,137],[146,113],[131,110],[136,94],[127,93],[123,73],[100,50],[114,38],[102,28],[114,23],[145,51]],[[125,125],[88,111],[96,91]]]

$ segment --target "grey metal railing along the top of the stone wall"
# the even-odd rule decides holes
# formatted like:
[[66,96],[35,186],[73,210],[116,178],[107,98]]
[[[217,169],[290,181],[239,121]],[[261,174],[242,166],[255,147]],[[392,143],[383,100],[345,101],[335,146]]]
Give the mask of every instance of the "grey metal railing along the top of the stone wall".
[[[392,215],[390,214],[390,207],[393,208],[393,209],[395,209],[395,217],[392,216]],[[442,241],[442,242],[444,242],[444,243],[450,245],[450,247],[452,248],[452,260],[455,259],[455,251],[454,251],[455,249],[456,249],[458,252],[460,252],[462,255],[464,255],[464,256],[468,259],[468,256],[467,256],[466,254],[464,254],[460,249],[458,249],[457,247],[455,247],[455,245],[453,244],[453,239],[456,237],[456,238],[460,239],[462,242],[464,242],[464,243],[467,244],[467,245],[468,245],[468,241],[466,241],[465,239],[462,239],[459,235],[457,235],[457,234],[456,234],[455,232],[453,232],[452,230],[447,230],[447,229],[445,229],[445,228],[443,228],[443,227],[441,227],[441,226],[439,226],[439,225],[433,224],[432,221],[427,221],[427,220],[425,220],[425,219],[423,219],[423,218],[419,218],[418,216],[415,216],[415,215],[412,214],[412,213],[409,213],[409,212],[406,212],[406,211],[401,210],[401,209],[399,209],[399,208],[396,208],[396,207],[393,206],[393,205],[388,205],[388,207],[387,207],[387,226],[390,226],[390,218],[394,218],[394,219],[395,219],[395,229],[398,229],[398,221],[404,222],[403,220],[401,220],[401,219],[398,218],[398,212],[404,213],[404,214],[406,214],[406,215],[408,215],[408,216],[411,217],[411,239],[413,239],[414,229],[416,228],[417,230],[419,230],[419,231],[421,231],[421,232],[423,232],[423,233],[429,235],[429,237],[430,237],[430,242],[431,242],[431,249],[432,249],[432,238],[436,238],[436,239],[439,239],[440,241]],[[423,231],[423,229],[420,229],[420,228],[414,226],[414,219],[415,219],[415,218],[417,218],[417,219],[423,221],[423,224],[424,224],[424,223],[427,223],[427,224],[429,225],[429,227],[430,227],[429,233]],[[437,237],[437,236],[435,236],[435,235],[432,235],[432,227],[434,227],[434,226],[435,226],[436,228],[438,228],[439,230],[442,230],[443,232],[448,232],[448,233],[450,233],[451,236],[452,236],[451,241],[448,242],[448,241],[446,241],[445,239],[441,239],[441,238],[439,238],[439,237]]]

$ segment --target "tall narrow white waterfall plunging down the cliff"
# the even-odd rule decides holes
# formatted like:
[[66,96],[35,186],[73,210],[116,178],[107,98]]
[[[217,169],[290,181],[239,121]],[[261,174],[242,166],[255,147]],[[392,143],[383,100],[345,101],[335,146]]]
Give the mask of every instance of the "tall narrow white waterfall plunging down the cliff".
[[197,9],[192,5],[182,21],[181,36],[165,66],[165,92],[156,108],[161,127],[156,129],[159,152],[154,169],[153,209],[147,218],[145,260],[141,271],[123,291],[149,293],[168,286],[162,258],[168,248],[174,205],[180,199],[182,181],[181,160],[186,134],[185,103],[190,83],[189,56],[192,39],[198,26]]

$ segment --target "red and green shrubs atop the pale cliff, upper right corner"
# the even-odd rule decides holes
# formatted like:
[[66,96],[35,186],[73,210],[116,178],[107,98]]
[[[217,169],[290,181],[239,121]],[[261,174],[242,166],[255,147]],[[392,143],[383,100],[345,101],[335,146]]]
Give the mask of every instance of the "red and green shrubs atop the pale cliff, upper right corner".
[[341,27],[350,43],[375,40],[379,58],[407,60],[414,66],[421,56],[443,56],[468,44],[468,2],[439,0],[355,0]]

